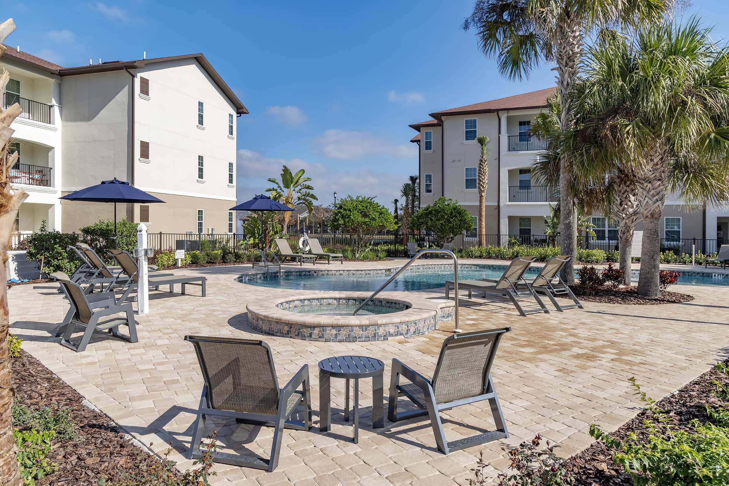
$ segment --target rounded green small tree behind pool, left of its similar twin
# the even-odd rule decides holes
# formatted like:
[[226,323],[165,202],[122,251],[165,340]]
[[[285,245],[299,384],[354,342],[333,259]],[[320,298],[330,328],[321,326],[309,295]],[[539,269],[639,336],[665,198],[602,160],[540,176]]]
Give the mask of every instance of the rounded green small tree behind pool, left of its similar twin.
[[332,228],[355,235],[352,249],[359,256],[372,243],[378,231],[394,230],[395,219],[374,197],[347,196],[332,210]]

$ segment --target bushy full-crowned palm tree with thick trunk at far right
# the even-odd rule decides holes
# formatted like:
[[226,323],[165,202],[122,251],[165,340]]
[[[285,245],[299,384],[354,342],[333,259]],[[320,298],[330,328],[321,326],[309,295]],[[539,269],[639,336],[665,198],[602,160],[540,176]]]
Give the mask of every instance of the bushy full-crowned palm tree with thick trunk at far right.
[[[639,294],[660,294],[660,219],[669,190],[689,204],[716,202],[729,174],[729,49],[692,17],[607,35],[588,51],[580,98],[586,130],[635,171],[643,218]],[[625,189],[623,189],[625,190]]]

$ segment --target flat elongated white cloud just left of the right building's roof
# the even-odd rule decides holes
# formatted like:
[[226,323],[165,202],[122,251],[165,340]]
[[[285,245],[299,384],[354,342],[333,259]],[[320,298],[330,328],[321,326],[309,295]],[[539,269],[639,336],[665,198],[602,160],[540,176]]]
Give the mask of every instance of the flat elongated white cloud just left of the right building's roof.
[[371,155],[414,157],[417,148],[413,144],[392,144],[369,132],[326,130],[314,138],[314,148],[332,159],[357,160]]

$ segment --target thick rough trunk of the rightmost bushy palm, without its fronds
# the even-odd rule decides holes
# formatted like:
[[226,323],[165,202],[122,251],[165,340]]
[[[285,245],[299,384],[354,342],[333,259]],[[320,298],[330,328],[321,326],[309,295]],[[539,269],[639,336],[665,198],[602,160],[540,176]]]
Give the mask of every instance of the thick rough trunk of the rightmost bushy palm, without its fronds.
[[638,294],[659,297],[660,219],[668,188],[668,147],[658,141],[647,151],[638,178],[639,201],[643,216],[643,248],[640,255]]

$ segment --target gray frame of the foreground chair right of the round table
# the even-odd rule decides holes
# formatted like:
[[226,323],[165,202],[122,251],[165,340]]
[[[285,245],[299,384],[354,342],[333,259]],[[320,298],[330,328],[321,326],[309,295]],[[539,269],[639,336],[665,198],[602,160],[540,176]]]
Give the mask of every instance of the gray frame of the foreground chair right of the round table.
[[[494,381],[491,380],[491,366],[494,364],[494,356],[496,356],[496,350],[499,348],[499,342],[501,341],[502,335],[510,331],[510,327],[505,327],[503,329],[490,329],[488,331],[453,334],[453,336],[445,338],[443,346],[440,348],[440,356],[438,356],[438,363],[435,367],[432,380],[428,380],[414,369],[408,367],[408,365],[404,364],[402,361],[399,361],[399,359],[393,358],[390,375],[387,419],[391,422],[397,422],[398,420],[407,420],[421,415],[428,415],[438,450],[443,452],[443,454],[448,454],[454,450],[460,450],[466,447],[485,444],[486,442],[494,440],[507,439],[509,437],[509,431],[507,430],[504,414],[502,413],[501,405],[499,404],[499,396],[496,394],[496,389],[494,388]],[[488,354],[486,363],[483,367],[483,393],[455,401],[439,403],[436,399],[434,389],[440,373],[443,372],[443,367],[448,367],[448,364],[444,364],[445,352],[448,346],[457,346],[459,345],[459,340],[464,342],[464,340],[467,340],[469,337],[478,337],[487,334],[496,334],[496,337],[494,337],[491,352]],[[457,350],[454,352],[457,352]],[[422,398],[425,401],[425,406],[418,404],[418,400],[413,396],[411,391],[409,391],[407,387],[400,385],[399,380],[401,376],[419,388],[422,393]],[[470,377],[464,377],[464,379],[472,380]],[[416,407],[418,407],[418,409],[397,413],[397,401],[401,396],[405,396],[405,398],[409,399],[416,405]],[[448,442],[445,439],[445,432],[443,431],[443,423],[440,420],[439,412],[460,407],[461,405],[473,404],[478,401],[488,401],[488,404],[491,407],[491,415],[494,416],[496,430]]]

